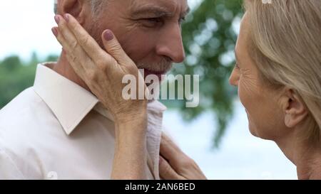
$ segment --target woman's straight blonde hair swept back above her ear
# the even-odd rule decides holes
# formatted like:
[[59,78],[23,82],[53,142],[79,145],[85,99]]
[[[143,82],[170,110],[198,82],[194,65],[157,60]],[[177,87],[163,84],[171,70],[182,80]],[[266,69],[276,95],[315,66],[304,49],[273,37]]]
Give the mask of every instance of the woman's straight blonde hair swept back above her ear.
[[290,87],[309,109],[305,138],[321,134],[321,1],[245,0],[251,58],[265,82]]

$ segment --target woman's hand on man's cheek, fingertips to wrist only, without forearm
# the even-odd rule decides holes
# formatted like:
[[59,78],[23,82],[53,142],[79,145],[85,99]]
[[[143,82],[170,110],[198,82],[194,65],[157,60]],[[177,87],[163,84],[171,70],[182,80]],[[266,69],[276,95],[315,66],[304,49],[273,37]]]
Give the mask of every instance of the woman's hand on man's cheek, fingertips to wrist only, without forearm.
[[58,28],[53,28],[53,32],[63,46],[68,62],[91,92],[113,114],[116,122],[123,123],[144,117],[146,99],[123,98],[122,90],[125,85],[122,80],[125,75],[134,75],[136,88],[144,90],[144,94],[146,85],[143,83],[143,88],[138,87],[138,82],[143,82],[143,77],[113,33],[110,30],[103,32],[103,45],[106,49],[103,50],[70,14],[56,16],[55,19]]

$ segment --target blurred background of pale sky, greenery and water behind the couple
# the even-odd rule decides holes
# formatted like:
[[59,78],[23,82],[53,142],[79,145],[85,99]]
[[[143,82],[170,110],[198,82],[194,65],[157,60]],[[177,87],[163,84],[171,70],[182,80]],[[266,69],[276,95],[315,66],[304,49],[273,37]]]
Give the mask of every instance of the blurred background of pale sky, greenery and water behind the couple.
[[[241,0],[189,0],[183,23],[185,63],[171,73],[200,75],[200,105],[162,101],[164,125],[210,179],[297,179],[295,166],[272,141],[248,131],[237,90],[228,85],[243,16]],[[11,0],[0,6],[0,109],[34,83],[36,64],[55,61],[53,1]]]

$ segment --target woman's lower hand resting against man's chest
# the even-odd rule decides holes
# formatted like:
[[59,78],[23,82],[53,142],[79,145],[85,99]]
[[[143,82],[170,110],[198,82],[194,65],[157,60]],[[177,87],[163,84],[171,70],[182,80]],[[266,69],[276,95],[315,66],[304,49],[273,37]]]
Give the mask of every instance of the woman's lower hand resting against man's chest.
[[165,134],[161,140],[159,171],[161,178],[165,180],[206,179],[195,161],[186,156]]

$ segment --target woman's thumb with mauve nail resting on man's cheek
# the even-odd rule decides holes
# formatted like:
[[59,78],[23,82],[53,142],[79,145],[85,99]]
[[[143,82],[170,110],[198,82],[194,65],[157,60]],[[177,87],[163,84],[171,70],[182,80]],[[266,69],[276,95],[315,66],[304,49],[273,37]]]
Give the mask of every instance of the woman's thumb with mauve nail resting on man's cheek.
[[102,34],[103,45],[107,51],[120,65],[132,63],[131,58],[125,53],[121,44],[118,43],[117,38],[111,30],[103,31]]

